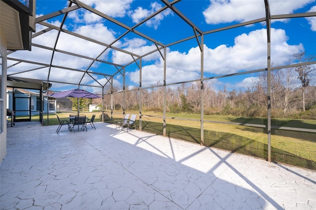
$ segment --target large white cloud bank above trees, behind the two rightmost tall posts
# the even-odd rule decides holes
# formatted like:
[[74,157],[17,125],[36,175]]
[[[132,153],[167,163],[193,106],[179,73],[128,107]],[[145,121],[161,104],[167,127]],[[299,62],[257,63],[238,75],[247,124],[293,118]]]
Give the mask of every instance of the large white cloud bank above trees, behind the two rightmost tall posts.
[[[284,30],[272,29],[271,34],[271,58],[275,64],[285,64],[294,53],[304,50],[302,44],[287,44],[288,37]],[[199,71],[199,47],[191,48],[188,53],[168,52],[167,66],[173,69]],[[204,72],[228,74],[240,70],[261,69],[266,66],[266,29],[238,35],[233,46],[219,45],[214,49],[204,46]]]

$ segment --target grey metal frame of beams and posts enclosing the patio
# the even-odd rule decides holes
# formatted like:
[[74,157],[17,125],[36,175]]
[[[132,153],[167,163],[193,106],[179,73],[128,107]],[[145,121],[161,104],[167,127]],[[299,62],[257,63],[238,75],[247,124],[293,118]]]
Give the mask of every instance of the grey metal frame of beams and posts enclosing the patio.
[[[118,20],[108,16],[107,14],[104,14],[100,11],[98,11],[97,9],[95,8],[92,8],[91,6],[87,5],[87,4],[84,4],[83,2],[79,1],[79,0],[69,0],[69,5],[67,8],[64,8],[64,9],[61,9],[61,10],[58,10],[56,12],[53,12],[53,13],[50,13],[50,14],[46,14],[46,15],[43,15],[43,16],[40,16],[40,17],[37,17],[35,18],[35,21],[37,24],[40,24],[42,26],[45,26],[47,27],[46,29],[40,31],[40,32],[37,32],[37,33],[34,33],[32,35],[32,38],[35,38],[37,36],[40,36],[42,34],[45,34],[51,30],[55,30],[58,32],[58,35],[57,35],[57,38],[55,40],[55,44],[54,44],[54,47],[47,47],[47,46],[43,46],[43,45],[39,45],[39,44],[35,44],[33,43],[32,46],[34,47],[39,47],[39,48],[43,48],[43,49],[46,49],[46,50],[49,50],[52,52],[51,54],[51,58],[50,58],[50,64],[45,64],[45,63],[39,63],[39,62],[34,62],[34,61],[29,61],[29,60],[24,60],[23,58],[12,58],[10,57],[10,54],[14,54],[14,51],[9,51],[7,54],[8,54],[8,60],[11,60],[11,61],[16,61],[18,63],[27,63],[27,64],[35,64],[35,65],[39,65],[41,67],[39,68],[36,68],[36,69],[30,69],[30,70],[23,70],[21,72],[28,72],[28,71],[33,71],[33,70],[39,70],[41,68],[49,68],[49,72],[48,72],[48,77],[47,77],[47,83],[66,83],[66,82],[62,82],[62,81],[54,81],[51,79],[51,69],[52,68],[56,68],[56,69],[62,69],[62,70],[71,70],[71,71],[76,71],[76,72],[79,72],[79,73],[82,73],[82,77],[80,79],[80,81],[78,83],[66,83],[66,84],[71,84],[71,85],[78,85],[78,88],[80,88],[80,86],[87,86],[87,87],[100,87],[102,88],[102,91],[104,91],[104,87],[106,85],[111,85],[111,117],[113,118],[113,97],[114,97],[114,92],[113,92],[113,78],[114,76],[118,75],[118,74],[121,74],[123,76],[123,88],[122,88],[122,92],[123,92],[123,113],[122,114],[125,114],[125,92],[126,92],[126,89],[125,89],[125,68],[128,67],[129,65],[131,64],[136,64],[139,68],[139,71],[140,71],[140,75],[139,75],[139,87],[138,87],[138,91],[139,91],[139,118],[140,118],[140,124],[139,124],[139,129],[142,130],[142,89],[144,88],[153,88],[153,87],[162,87],[163,88],[163,136],[166,135],[166,87],[167,86],[170,86],[170,85],[176,85],[176,84],[182,84],[182,83],[189,83],[189,82],[199,82],[200,83],[200,101],[201,101],[201,111],[200,111],[200,139],[201,139],[201,144],[203,144],[203,123],[205,122],[204,121],[204,118],[203,118],[203,115],[204,115],[204,108],[203,108],[203,100],[204,100],[204,94],[203,94],[203,90],[204,90],[204,82],[206,80],[211,80],[211,79],[217,79],[217,78],[223,78],[223,77],[228,77],[228,76],[232,76],[232,75],[241,75],[241,74],[247,74],[247,73],[254,73],[254,72],[260,72],[260,71],[267,71],[268,72],[268,93],[267,93],[267,97],[268,97],[268,107],[267,107],[267,112],[268,112],[268,125],[267,125],[267,129],[268,129],[268,137],[267,137],[267,140],[268,140],[268,161],[271,161],[271,128],[273,127],[271,125],[271,99],[270,99],[270,85],[271,85],[271,78],[270,78],[270,72],[271,70],[276,70],[276,69],[282,69],[282,68],[288,68],[288,67],[295,67],[295,66],[303,66],[303,65],[314,65],[316,64],[316,61],[314,62],[305,62],[305,63],[300,63],[300,64],[294,64],[294,65],[288,65],[288,66],[280,66],[280,67],[276,67],[276,68],[271,68],[271,61],[270,61],[270,49],[271,49],[271,21],[274,20],[274,19],[286,19],[286,18],[300,18],[300,17],[316,17],[316,12],[309,12],[309,13],[299,13],[299,14],[282,14],[282,15],[271,15],[270,14],[270,5],[269,5],[269,0],[264,0],[264,3],[265,3],[265,9],[266,9],[266,17],[264,18],[260,18],[260,19],[256,19],[256,20],[252,20],[252,21],[247,21],[247,22],[243,22],[243,23],[239,23],[239,24],[234,24],[234,25],[230,25],[228,27],[225,27],[225,28],[217,28],[217,29],[214,29],[214,30],[211,30],[211,31],[202,31],[200,30],[189,18],[187,18],[179,9],[177,9],[177,3],[180,2],[180,0],[173,0],[173,1],[168,1],[168,0],[161,0],[161,2],[164,4],[164,6],[159,9],[158,11],[156,11],[155,13],[151,14],[150,16],[148,16],[146,19],[142,20],[141,22],[139,22],[138,24],[135,24],[133,27],[129,27],[127,25],[125,25],[124,23],[122,22],[119,22]],[[114,41],[112,41],[111,43],[104,43],[104,42],[101,42],[101,41],[98,41],[98,40],[95,40],[91,37],[87,37],[87,36],[84,36],[84,35],[80,35],[80,34],[77,34],[77,33],[74,33],[72,31],[68,31],[66,29],[63,29],[63,25],[65,24],[65,21],[67,19],[67,15],[69,12],[71,11],[75,11],[77,9],[85,9],[87,11],[90,11],[102,18],[104,18],[106,21],[109,21],[113,24],[117,24],[118,26],[120,26],[121,28],[125,29],[126,32],[122,35],[120,35],[117,39],[115,39]],[[149,37],[148,35],[145,35],[137,30],[135,30],[136,27],[144,24],[146,21],[148,21],[149,19],[151,19],[152,17],[158,15],[159,13],[163,12],[164,10],[166,9],[170,9],[175,15],[177,15],[179,18],[181,18],[182,20],[184,20],[186,22],[186,24],[188,26],[190,26],[193,30],[193,35],[187,37],[187,38],[184,38],[184,39],[181,39],[181,40],[177,40],[173,43],[161,43],[159,42],[158,40],[155,40],[154,38],[152,37]],[[53,18],[53,17],[56,17],[56,16],[59,16],[59,15],[63,15],[63,20],[61,22],[61,26],[60,27],[57,27],[57,26],[54,26],[54,25],[51,25],[47,22],[45,22],[46,20],[50,19],[50,18]],[[246,71],[246,72],[238,72],[238,73],[234,73],[234,74],[226,74],[226,75],[220,75],[220,76],[214,76],[214,77],[208,77],[208,78],[205,78],[204,77],[204,51],[203,51],[203,46],[204,46],[204,35],[208,35],[208,34],[212,34],[212,33],[217,33],[217,32],[221,32],[221,31],[226,31],[226,30],[230,30],[230,29],[234,29],[234,28],[237,28],[237,27],[242,27],[242,26],[247,26],[247,25],[251,25],[251,24],[255,24],[255,23],[260,23],[260,22],[265,22],[266,23],[266,27],[267,27],[267,67],[268,68],[264,68],[264,69],[258,69],[258,70],[252,70],[252,71]],[[91,57],[87,57],[87,56],[83,56],[83,55],[79,55],[79,54],[76,54],[76,53],[73,53],[73,52],[70,52],[70,51],[65,51],[65,50],[60,50],[56,47],[57,45],[57,41],[58,41],[58,38],[60,36],[61,33],[65,33],[67,35],[72,35],[72,36],[75,36],[75,37],[78,37],[78,38],[81,38],[81,39],[84,39],[84,40],[88,40],[90,42],[93,42],[93,43],[96,43],[96,44],[99,44],[99,45],[102,45],[104,47],[104,51],[102,53],[104,53],[106,50],[108,49],[114,49],[118,52],[121,52],[121,53],[125,53],[125,54],[128,54],[130,55],[132,58],[133,58],[133,61],[122,66],[122,65],[119,65],[119,64],[116,64],[116,63],[112,63],[112,62],[108,62],[108,61],[104,61],[104,60],[101,60],[100,59],[100,56],[102,55],[102,53],[100,53],[98,56],[94,57],[94,58],[91,58]],[[149,53],[146,53],[144,55],[138,55],[134,52],[128,52],[124,49],[120,49],[118,47],[115,46],[115,43],[120,41],[121,38],[128,34],[128,33],[132,33],[132,34],[135,34],[135,35],[138,35],[138,36],[141,36],[153,43],[155,43],[156,45],[156,49],[149,52]],[[197,45],[199,46],[199,49],[200,49],[200,78],[197,79],[197,80],[190,80],[190,81],[182,81],[182,82],[178,82],[178,83],[169,83],[167,84],[166,83],[166,62],[167,62],[167,58],[166,58],[166,48],[169,47],[169,46],[172,46],[172,45],[175,45],[175,44],[178,44],[178,43],[181,43],[181,42],[184,42],[184,41],[187,41],[187,40],[191,40],[191,39],[196,39],[196,42],[197,42]],[[65,55],[71,55],[71,56],[75,56],[75,57],[79,57],[79,58],[84,58],[84,59],[87,59],[90,61],[90,65],[85,69],[85,70],[80,70],[80,69],[75,69],[75,68],[69,68],[69,67],[65,67],[65,66],[56,66],[56,65],[53,65],[53,59],[54,59],[54,54],[58,52],[58,53],[62,53],[62,54],[65,54]],[[156,86],[151,86],[151,87],[142,87],[142,59],[147,56],[147,55],[150,55],[152,53],[155,53],[155,52],[158,52],[160,53],[161,55],[161,58],[163,59],[164,63],[163,63],[163,84],[161,85],[156,85]],[[96,71],[91,71],[90,68],[91,66],[95,63],[95,62],[100,62],[100,63],[104,63],[104,64],[107,64],[107,65],[112,65],[114,66],[117,71],[114,73],[114,74],[107,74],[107,73],[104,73],[104,72],[96,72]],[[8,67],[9,69],[10,67]],[[13,73],[13,74],[10,74],[10,75],[15,75],[15,74],[18,74],[18,73],[21,73],[21,72],[16,72],[16,73]],[[88,75],[90,76],[96,84],[98,85],[95,85],[95,84],[84,84],[82,82],[82,79],[85,75]],[[107,81],[104,83],[104,84],[101,84],[93,75],[101,75],[101,76],[104,76]],[[46,89],[46,91],[48,91],[48,88]],[[104,96],[104,92],[102,92],[103,96]],[[102,115],[103,116],[103,115]],[[208,121],[208,122],[211,122],[211,121]],[[234,124],[234,123],[232,123]],[[265,127],[263,125],[254,125],[254,124],[243,124],[245,126],[254,126],[254,127]],[[314,129],[293,129],[293,128],[277,128],[277,127],[273,127],[273,128],[276,128],[276,129],[290,129],[290,130],[297,130],[297,131],[308,131],[308,132],[316,132],[316,130]]]

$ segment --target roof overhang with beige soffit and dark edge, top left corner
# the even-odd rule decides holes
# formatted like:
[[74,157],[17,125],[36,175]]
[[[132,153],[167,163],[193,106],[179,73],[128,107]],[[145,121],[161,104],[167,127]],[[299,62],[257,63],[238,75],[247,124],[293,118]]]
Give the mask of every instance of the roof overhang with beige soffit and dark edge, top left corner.
[[0,27],[7,50],[31,50],[32,15],[19,0],[0,0]]

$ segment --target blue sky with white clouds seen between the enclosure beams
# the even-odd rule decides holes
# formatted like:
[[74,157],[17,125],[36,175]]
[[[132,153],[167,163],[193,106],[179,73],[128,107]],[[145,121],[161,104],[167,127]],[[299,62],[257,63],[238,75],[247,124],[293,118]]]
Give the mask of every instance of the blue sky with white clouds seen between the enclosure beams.
[[[155,0],[82,0],[81,2],[98,9],[104,14],[134,27],[144,18],[158,11],[164,6],[163,2]],[[271,14],[292,14],[302,12],[316,12],[315,0],[270,0]],[[49,14],[67,7],[67,0],[37,0],[37,16]],[[74,4],[73,4],[74,5]],[[182,0],[174,4],[187,18],[203,32],[225,26],[245,22],[265,16],[263,0]],[[46,22],[60,27],[63,16],[48,19]],[[37,32],[46,27],[37,24]],[[71,32],[85,35],[111,43],[126,29],[100,18],[87,10],[78,9],[70,12],[63,26]],[[170,44],[177,40],[194,35],[189,27],[171,10],[166,9],[159,15],[135,28],[138,32],[156,39],[162,44]],[[238,27],[224,32],[204,35],[204,77],[219,76],[229,73],[263,69],[267,67],[267,44],[265,22]],[[289,64],[293,54],[305,51],[307,55],[316,55],[316,17],[291,18],[272,21],[271,59],[273,66]],[[52,30],[33,39],[33,43],[53,47],[57,31]],[[145,38],[128,33],[114,46],[138,55],[146,54],[156,49],[153,42]],[[56,48],[72,53],[95,58],[105,49],[104,46],[61,33]],[[32,52],[14,52],[8,57],[29,59],[39,63],[49,64],[51,51],[34,47]],[[106,50],[99,59],[125,65],[132,61],[131,56],[116,50]],[[196,39],[191,39],[167,48],[167,83],[190,81],[200,78],[200,51]],[[15,62],[9,61],[8,66]],[[86,70],[91,61],[80,59],[62,53],[55,53],[53,65]],[[146,56],[142,60],[142,86],[148,87],[163,81],[163,60],[158,52]],[[36,69],[40,65],[18,64],[8,69],[8,73]],[[90,69],[95,72],[113,74],[117,69],[113,66],[95,62]],[[38,79],[47,79],[48,68],[32,70],[17,74]],[[211,80],[215,89],[247,89],[253,85],[258,74],[226,77]],[[61,69],[51,69],[49,79],[52,81],[96,84],[90,76],[78,72]],[[95,79],[105,84],[107,78],[95,75]],[[315,78],[316,80],[316,78]],[[314,80],[313,80],[314,81]],[[121,87],[122,76],[114,77],[114,84]],[[126,68],[126,86],[139,85],[139,69],[133,64]],[[314,82],[315,84],[316,82]],[[76,88],[64,83],[53,83],[52,90],[66,90]],[[83,89],[90,89],[84,87]],[[93,89],[98,92],[98,89]]]

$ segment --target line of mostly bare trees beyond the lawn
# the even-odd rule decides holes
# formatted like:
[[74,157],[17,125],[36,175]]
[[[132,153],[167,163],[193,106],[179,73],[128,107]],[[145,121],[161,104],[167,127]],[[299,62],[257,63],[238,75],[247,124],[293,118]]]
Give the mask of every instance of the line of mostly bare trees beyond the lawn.
[[[315,56],[305,53],[293,55],[298,63],[313,61]],[[316,86],[312,86],[313,65],[297,66],[287,69],[271,70],[271,110],[273,117],[316,119]],[[220,90],[213,87],[212,80],[203,83],[204,114],[234,115],[244,117],[267,117],[268,76],[262,71],[246,90]],[[142,89],[142,110],[163,110],[163,87]],[[114,110],[123,109],[123,92],[113,87]],[[110,90],[108,90],[110,93]],[[139,90],[137,87],[125,91],[125,110],[139,110]],[[97,102],[101,104],[100,99]],[[94,103],[96,103],[94,101]],[[104,109],[111,109],[111,94],[104,97]],[[166,87],[166,111],[172,113],[199,113],[201,107],[200,83],[181,84]],[[314,113],[315,111],[315,113]]]

